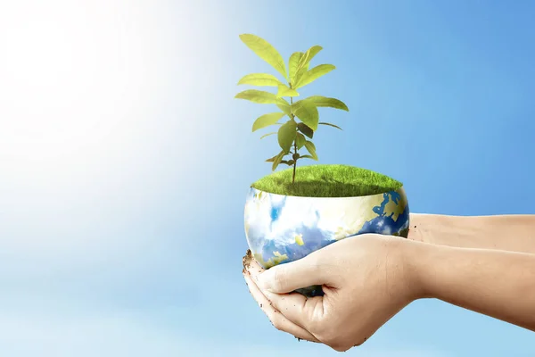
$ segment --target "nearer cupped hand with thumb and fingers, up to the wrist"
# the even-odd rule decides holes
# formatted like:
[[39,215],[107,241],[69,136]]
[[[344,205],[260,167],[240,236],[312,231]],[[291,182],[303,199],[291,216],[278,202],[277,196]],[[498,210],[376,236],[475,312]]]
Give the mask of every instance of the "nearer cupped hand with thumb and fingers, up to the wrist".
[[[342,239],[296,261],[243,270],[251,295],[279,330],[347,351],[420,297],[405,238],[374,234]],[[292,291],[321,285],[325,295]]]

